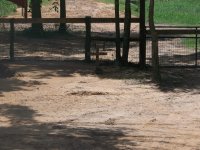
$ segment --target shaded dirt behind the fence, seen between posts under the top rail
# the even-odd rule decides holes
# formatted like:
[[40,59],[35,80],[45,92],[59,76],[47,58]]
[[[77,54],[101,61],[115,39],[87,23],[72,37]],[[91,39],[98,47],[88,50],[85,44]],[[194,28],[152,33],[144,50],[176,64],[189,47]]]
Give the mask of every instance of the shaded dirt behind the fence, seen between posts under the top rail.
[[[22,26],[22,27],[20,27]],[[53,27],[52,27],[53,26]],[[21,29],[22,28],[22,29]],[[27,25],[17,25],[15,34],[15,58],[17,60],[83,60],[85,54],[85,29],[77,30],[69,29],[67,33],[59,34],[54,25],[47,25],[47,31],[42,37],[34,37],[29,31]],[[72,30],[72,31],[71,31]],[[3,59],[9,58],[9,32],[1,32],[0,41],[1,56]],[[115,38],[112,31],[92,32],[92,36]],[[102,56],[103,59],[115,59],[115,42],[109,41],[91,41],[91,52],[96,51],[96,43],[98,45],[105,44],[107,55]],[[133,42],[131,48],[138,48]],[[103,46],[100,46],[103,49]],[[104,58],[105,57],[105,58]]]

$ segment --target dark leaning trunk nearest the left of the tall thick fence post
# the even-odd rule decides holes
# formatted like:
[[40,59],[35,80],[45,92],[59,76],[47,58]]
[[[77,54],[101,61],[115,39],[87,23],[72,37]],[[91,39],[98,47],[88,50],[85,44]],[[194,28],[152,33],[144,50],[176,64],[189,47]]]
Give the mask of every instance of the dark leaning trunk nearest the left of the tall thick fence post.
[[122,55],[122,64],[124,65],[128,63],[130,28],[131,28],[131,7],[130,7],[130,0],[126,0],[125,1],[123,55]]

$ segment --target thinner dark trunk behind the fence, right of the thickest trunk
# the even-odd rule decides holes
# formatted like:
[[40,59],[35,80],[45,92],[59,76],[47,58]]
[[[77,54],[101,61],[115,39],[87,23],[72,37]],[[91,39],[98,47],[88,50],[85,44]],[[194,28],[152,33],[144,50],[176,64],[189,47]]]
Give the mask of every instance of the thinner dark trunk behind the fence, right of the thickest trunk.
[[[66,18],[66,1],[60,0],[60,18]],[[65,23],[60,23],[59,32],[65,32],[67,29]]]

